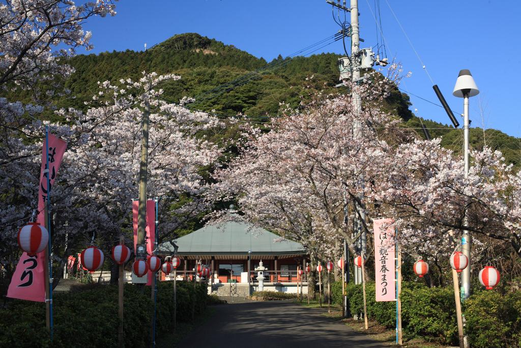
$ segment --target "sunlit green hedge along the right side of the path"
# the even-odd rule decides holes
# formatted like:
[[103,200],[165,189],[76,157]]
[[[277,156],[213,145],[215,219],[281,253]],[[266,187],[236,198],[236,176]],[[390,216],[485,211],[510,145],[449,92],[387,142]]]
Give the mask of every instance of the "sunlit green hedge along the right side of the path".
[[[346,288],[351,314],[363,315],[362,285]],[[376,302],[375,283],[366,283],[367,316],[381,325],[396,325],[395,302]],[[342,303],[342,283],[332,285],[333,303]],[[452,287],[427,287],[422,283],[402,284],[402,328],[405,337],[457,345],[457,321]],[[465,334],[470,346],[521,347],[521,292],[477,290],[465,301]]]

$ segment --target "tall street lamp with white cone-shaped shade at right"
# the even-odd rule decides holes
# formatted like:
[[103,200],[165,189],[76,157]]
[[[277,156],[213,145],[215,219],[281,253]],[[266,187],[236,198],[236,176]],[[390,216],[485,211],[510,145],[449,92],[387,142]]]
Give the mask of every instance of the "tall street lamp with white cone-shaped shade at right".
[[[463,98],[463,159],[464,159],[464,175],[465,179],[468,177],[468,98],[478,95],[479,89],[476,82],[472,78],[472,74],[467,69],[460,70],[460,74],[456,80],[456,86],[452,94],[454,97]],[[465,214],[464,224],[467,224],[467,217]],[[472,245],[472,237],[468,231],[463,231],[461,237],[461,244],[463,246],[463,254],[468,258],[468,267],[463,270],[461,281],[461,295],[462,299],[470,296],[470,246]]]

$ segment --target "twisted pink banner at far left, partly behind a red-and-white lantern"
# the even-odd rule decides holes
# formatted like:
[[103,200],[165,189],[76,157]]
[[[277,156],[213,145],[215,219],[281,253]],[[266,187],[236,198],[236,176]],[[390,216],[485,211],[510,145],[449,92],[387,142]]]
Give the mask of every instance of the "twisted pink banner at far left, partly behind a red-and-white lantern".
[[[63,159],[67,143],[49,133],[49,170],[47,171],[46,147],[43,142],[42,165],[40,166],[40,190],[38,193],[38,217],[36,222],[45,225],[45,204],[47,193],[51,190],[56,173]],[[47,176],[49,187],[47,187]],[[27,301],[45,302],[44,259],[47,248],[35,256],[23,253],[16,265],[15,273],[11,278],[7,297],[26,299]]]

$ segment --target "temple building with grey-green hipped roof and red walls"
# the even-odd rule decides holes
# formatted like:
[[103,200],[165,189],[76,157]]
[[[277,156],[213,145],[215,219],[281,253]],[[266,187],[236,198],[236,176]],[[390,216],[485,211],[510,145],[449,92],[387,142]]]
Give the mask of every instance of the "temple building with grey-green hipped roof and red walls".
[[[192,280],[196,262],[201,260],[211,271],[207,280],[208,292],[220,296],[247,296],[257,291],[258,272],[255,268],[261,260],[267,268],[264,271],[265,291],[296,293],[297,266],[304,268],[307,256],[302,244],[255,227],[238,215],[232,221],[207,225],[172,242],[160,244],[158,254],[173,255],[174,245],[182,259],[177,270],[178,279]],[[307,293],[305,280],[304,276],[304,294]]]

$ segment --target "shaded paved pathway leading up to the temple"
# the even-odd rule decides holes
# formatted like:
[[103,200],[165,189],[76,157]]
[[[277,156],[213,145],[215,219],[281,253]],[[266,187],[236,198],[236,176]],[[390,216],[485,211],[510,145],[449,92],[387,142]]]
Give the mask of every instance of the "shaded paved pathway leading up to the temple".
[[386,347],[322,316],[324,310],[292,302],[229,303],[214,308],[216,313],[179,347]]

